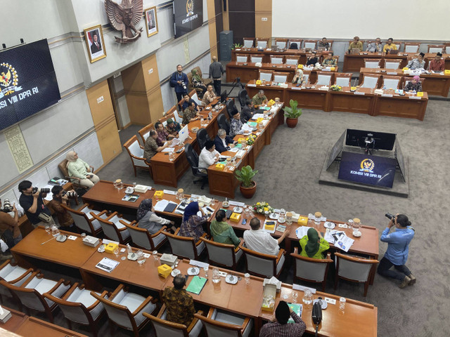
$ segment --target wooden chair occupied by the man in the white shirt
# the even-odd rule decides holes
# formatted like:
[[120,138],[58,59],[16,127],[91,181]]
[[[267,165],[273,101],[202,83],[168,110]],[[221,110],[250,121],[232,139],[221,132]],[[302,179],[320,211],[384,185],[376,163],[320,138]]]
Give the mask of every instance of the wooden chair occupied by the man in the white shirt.
[[250,274],[267,278],[280,276],[285,261],[284,249],[280,249],[278,255],[258,253],[248,249],[245,245],[240,249],[244,251],[246,268]]

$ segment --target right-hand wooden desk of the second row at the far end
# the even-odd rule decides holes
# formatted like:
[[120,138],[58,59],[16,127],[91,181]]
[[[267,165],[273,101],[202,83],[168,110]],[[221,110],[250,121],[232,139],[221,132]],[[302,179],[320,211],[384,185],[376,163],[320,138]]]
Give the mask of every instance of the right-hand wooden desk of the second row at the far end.
[[[409,77],[410,79],[414,74],[404,74],[401,69],[385,69],[385,68],[361,68],[359,71],[363,76],[359,77],[359,83],[363,81],[365,74],[380,74],[381,81],[383,81],[383,76],[400,76]],[[425,79],[423,81],[422,89],[426,91],[428,95],[440,95],[447,97],[450,90],[450,75],[442,73],[435,74],[420,74],[420,78]]]

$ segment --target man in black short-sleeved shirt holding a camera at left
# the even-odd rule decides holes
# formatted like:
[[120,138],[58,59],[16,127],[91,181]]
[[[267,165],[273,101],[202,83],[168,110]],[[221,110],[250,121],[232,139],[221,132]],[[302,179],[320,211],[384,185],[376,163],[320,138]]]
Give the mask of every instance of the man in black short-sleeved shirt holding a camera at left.
[[55,225],[49,208],[44,204],[44,192],[37,187],[33,188],[29,180],[23,180],[19,184],[19,204],[25,210],[25,215],[34,227],[39,225]]

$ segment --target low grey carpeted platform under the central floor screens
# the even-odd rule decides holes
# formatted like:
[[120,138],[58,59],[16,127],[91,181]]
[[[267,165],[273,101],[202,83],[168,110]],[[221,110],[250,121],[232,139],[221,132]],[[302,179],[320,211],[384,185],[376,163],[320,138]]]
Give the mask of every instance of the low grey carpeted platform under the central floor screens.
[[[400,171],[397,169],[397,171],[395,172],[394,184],[392,185],[392,188],[387,188],[387,187],[378,187],[378,186],[373,186],[373,185],[358,184],[358,183],[353,183],[351,181],[338,179],[339,164],[340,164],[339,161],[333,161],[333,164],[330,165],[330,168],[328,169],[328,171],[326,170],[326,161],[330,155],[330,150],[328,150],[326,157],[325,157],[325,161],[323,162],[321,175],[319,176],[319,184],[345,187],[345,188],[350,188],[353,190],[375,192],[375,193],[380,193],[380,194],[390,194],[390,195],[394,195],[395,197],[407,198],[409,196],[409,159],[408,159],[408,157],[406,157],[406,156],[404,157],[406,181],[403,180],[403,178],[401,177]],[[351,146],[344,145],[342,150],[347,151],[347,152],[356,152],[356,153],[364,154],[364,149],[359,150],[358,148],[351,147]],[[373,154],[375,154],[376,156],[379,156],[379,157],[392,157],[391,151],[378,150],[377,152],[374,152]]]

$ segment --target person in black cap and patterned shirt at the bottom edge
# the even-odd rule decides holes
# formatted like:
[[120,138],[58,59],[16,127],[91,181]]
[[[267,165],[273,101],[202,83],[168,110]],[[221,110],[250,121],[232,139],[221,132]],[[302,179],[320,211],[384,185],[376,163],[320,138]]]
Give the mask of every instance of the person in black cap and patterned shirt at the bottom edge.
[[[290,318],[294,320],[294,323],[288,324]],[[275,317],[262,326],[259,337],[302,337],[306,329],[307,325],[293,312],[288,303],[280,300],[275,309]]]

